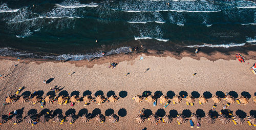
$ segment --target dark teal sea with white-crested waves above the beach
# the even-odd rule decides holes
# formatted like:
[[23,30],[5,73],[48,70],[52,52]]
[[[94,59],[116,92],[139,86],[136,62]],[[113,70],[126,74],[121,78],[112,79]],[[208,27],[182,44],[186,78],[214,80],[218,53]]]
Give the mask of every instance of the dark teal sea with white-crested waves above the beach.
[[140,45],[255,50],[255,42],[253,1],[0,2],[0,55],[82,60]]

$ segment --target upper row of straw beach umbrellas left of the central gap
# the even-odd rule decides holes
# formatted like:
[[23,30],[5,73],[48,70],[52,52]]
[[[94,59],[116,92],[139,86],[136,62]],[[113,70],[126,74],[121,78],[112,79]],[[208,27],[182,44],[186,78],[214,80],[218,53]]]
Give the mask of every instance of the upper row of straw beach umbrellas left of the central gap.
[[[31,99],[31,100],[30,100]],[[45,99],[45,101],[47,103],[52,103],[55,100],[55,97],[53,95],[48,95],[45,98],[42,98],[41,96],[35,95],[32,98],[30,98],[29,96],[26,95],[22,95],[17,97],[16,95],[12,95],[12,96],[8,96],[5,100],[6,103],[12,103],[14,101],[18,101],[18,102],[28,102],[29,100],[33,103],[37,103],[40,102],[41,100]],[[95,101],[97,103],[103,103],[105,102],[105,100],[108,99],[109,102],[117,102],[119,97],[117,97],[116,95],[112,95],[109,98],[105,98],[104,95],[98,95],[97,97],[95,97]],[[67,96],[64,95],[60,95],[59,97],[57,97],[57,101],[58,103],[64,103],[68,100]],[[69,99],[71,102],[75,103],[75,102],[79,102],[80,98],[77,95],[73,95],[70,97]],[[86,95],[82,97],[82,100],[84,101],[84,103],[91,103],[93,101],[93,97],[91,95]]]

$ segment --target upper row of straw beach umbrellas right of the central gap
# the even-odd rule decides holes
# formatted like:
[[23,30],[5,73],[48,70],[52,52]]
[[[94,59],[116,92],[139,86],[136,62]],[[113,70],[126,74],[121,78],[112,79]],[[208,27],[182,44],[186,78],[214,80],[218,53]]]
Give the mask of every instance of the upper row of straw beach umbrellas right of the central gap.
[[[205,98],[204,96],[200,96],[198,99],[199,99],[199,101],[200,101],[201,103],[206,103],[206,102],[208,102],[208,98]],[[222,101],[222,98],[218,97],[217,95],[212,96],[211,99],[212,99],[212,101],[214,101],[214,103],[220,103],[220,102]],[[239,99],[239,101],[240,101],[241,103],[243,103],[243,104],[247,104],[247,103],[249,102],[249,99],[246,98],[245,96],[240,96],[238,99]],[[144,97],[143,97],[143,96],[140,96],[140,95],[136,95],[136,96],[133,97],[133,100],[135,100],[135,102],[142,102],[142,101],[144,100]],[[148,95],[148,96],[145,98],[145,100],[146,100],[147,102],[154,103],[154,102],[156,101],[156,97],[153,96],[153,95]],[[159,100],[160,100],[160,103],[168,103],[169,101],[171,101],[171,99],[168,98],[168,97],[165,96],[165,95],[160,96]],[[195,103],[195,101],[196,101],[196,99],[195,99],[193,96],[190,96],[190,95],[187,96],[187,97],[185,98],[185,100],[186,100],[188,103]],[[229,103],[234,103],[234,102],[236,102],[236,99],[235,99],[234,97],[230,96],[230,95],[227,95],[227,96],[225,97],[225,100],[226,100],[227,102],[229,102]],[[175,102],[175,103],[180,103],[181,101],[182,101],[182,97],[181,97],[181,96],[175,95],[175,96],[173,97],[173,102]],[[256,103],[256,96],[253,97],[253,102]]]

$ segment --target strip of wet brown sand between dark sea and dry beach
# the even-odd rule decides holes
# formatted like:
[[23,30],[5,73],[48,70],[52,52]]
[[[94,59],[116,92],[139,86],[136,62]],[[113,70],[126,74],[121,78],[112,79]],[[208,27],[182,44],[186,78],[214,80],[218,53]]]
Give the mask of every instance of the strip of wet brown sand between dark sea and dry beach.
[[[82,67],[86,66],[87,68],[92,68],[95,64],[104,64],[108,62],[122,62],[122,61],[131,61],[136,59],[139,55],[146,55],[146,56],[155,56],[155,57],[174,57],[176,59],[182,59],[183,57],[190,57],[196,60],[200,60],[201,57],[204,57],[210,61],[216,61],[218,59],[224,59],[224,60],[233,60],[236,59],[236,54],[241,54],[243,57],[245,57],[246,60],[249,59],[256,59],[256,51],[247,51],[247,52],[241,52],[241,51],[228,51],[228,52],[220,52],[220,51],[212,51],[210,53],[205,53],[203,50],[200,51],[198,54],[195,54],[193,50],[196,48],[189,48],[187,50],[181,51],[181,52],[172,52],[172,51],[162,51],[162,50],[151,50],[151,49],[140,49],[138,51],[133,52],[127,52],[127,53],[119,53],[119,54],[111,54],[103,57],[94,57],[92,59],[86,60],[66,60],[65,62],[69,62],[71,64],[75,64],[76,67]],[[205,48],[204,48],[205,49]],[[206,50],[207,51],[207,50]],[[0,56],[0,60],[17,60],[17,57],[15,56]],[[35,62],[36,64],[41,64],[45,62],[54,62],[58,63],[60,60],[56,59],[42,59],[42,58],[27,58],[27,57],[20,57],[25,62]]]

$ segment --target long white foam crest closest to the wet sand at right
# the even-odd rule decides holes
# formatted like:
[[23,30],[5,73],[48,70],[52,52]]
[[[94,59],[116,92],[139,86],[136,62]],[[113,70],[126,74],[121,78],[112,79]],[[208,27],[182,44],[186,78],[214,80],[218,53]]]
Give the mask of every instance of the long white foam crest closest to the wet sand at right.
[[241,47],[245,44],[221,44],[221,45],[211,45],[211,44],[204,44],[204,45],[191,45],[191,46],[185,46],[188,48],[200,48],[200,47],[211,47],[211,48],[229,48],[229,47]]

